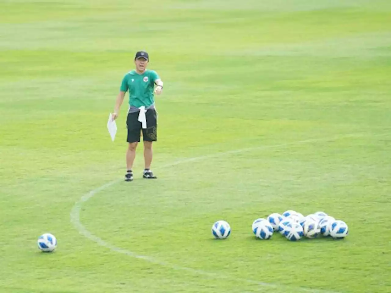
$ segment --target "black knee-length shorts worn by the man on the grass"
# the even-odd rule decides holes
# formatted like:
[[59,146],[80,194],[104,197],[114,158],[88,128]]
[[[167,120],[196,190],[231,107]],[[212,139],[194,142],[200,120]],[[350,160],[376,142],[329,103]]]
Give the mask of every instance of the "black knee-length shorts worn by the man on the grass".
[[147,118],[147,129],[142,129],[141,122],[138,121],[139,112],[128,113],[126,119],[127,126],[127,142],[135,143],[140,141],[140,133],[143,131],[143,140],[144,141],[156,141],[158,139],[157,135],[157,113],[155,109],[148,109],[145,113]]

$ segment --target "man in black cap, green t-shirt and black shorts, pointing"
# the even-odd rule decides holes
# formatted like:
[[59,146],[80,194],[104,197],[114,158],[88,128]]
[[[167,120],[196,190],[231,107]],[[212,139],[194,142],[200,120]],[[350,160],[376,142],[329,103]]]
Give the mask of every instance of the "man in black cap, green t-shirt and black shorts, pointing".
[[[126,73],[122,80],[120,93],[115,102],[113,119],[118,118],[125,93],[129,91],[129,111],[127,114],[127,142],[125,181],[133,180],[133,162],[136,148],[140,142],[140,132],[143,132],[145,169],[143,178],[156,179],[151,171],[152,141],[157,140],[157,113],[154,93],[160,95],[163,82],[153,70],[147,70],[149,55],[139,51],[135,56],[136,70]],[[156,87],[155,87],[156,85]]]

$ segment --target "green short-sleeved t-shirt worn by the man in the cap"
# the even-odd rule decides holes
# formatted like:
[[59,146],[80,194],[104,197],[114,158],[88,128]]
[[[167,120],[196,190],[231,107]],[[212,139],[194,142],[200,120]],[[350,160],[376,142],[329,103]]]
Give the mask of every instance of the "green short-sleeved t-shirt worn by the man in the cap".
[[129,105],[133,107],[149,107],[154,103],[154,82],[160,79],[153,70],[145,70],[138,74],[136,70],[129,71],[122,79],[121,91],[129,91]]

